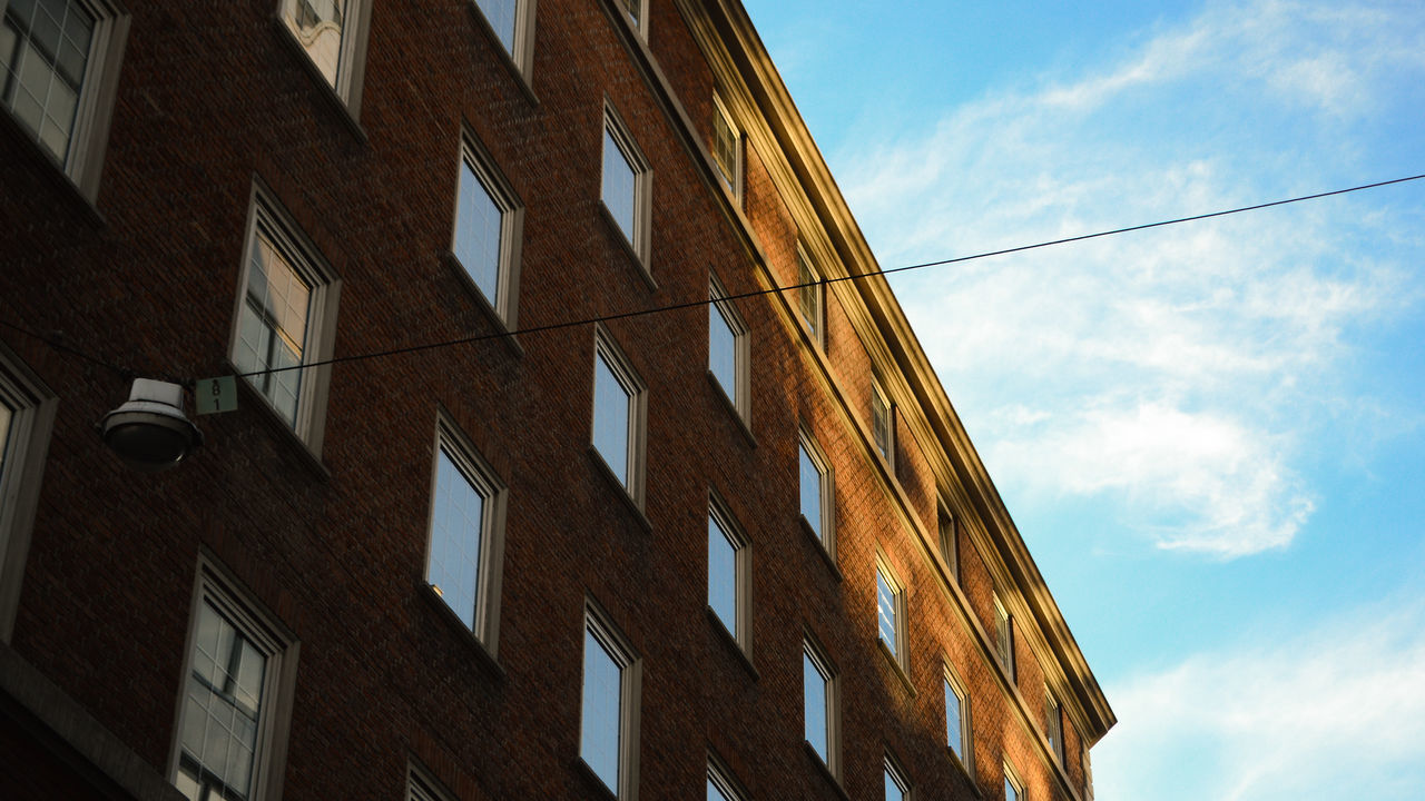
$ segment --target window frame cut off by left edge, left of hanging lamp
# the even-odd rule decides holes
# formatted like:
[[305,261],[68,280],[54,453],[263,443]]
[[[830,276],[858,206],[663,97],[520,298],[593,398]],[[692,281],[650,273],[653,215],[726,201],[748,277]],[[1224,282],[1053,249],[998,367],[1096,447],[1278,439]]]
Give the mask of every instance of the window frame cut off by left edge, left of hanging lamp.
[[10,409],[0,452],[0,643],[9,643],[60,400],[0,343],[0,403]]

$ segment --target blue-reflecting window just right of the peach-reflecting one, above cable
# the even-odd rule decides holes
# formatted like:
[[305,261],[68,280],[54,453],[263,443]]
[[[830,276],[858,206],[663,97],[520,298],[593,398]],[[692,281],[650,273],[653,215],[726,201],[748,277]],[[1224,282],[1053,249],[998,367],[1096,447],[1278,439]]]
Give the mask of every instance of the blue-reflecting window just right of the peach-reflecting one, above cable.
[[514,326],[516,278],[524,210],[477,143],[460,144],[460,180],[450,251],[494,314]]

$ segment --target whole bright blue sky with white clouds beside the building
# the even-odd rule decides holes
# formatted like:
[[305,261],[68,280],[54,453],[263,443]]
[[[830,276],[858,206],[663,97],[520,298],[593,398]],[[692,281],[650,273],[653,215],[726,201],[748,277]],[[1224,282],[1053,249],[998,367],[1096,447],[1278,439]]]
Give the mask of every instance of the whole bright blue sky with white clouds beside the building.
[[[745,0],[885,268],[1425,172],[1425,6]],[[1106,801],[1425,787],[1425,181],[903,274]]]

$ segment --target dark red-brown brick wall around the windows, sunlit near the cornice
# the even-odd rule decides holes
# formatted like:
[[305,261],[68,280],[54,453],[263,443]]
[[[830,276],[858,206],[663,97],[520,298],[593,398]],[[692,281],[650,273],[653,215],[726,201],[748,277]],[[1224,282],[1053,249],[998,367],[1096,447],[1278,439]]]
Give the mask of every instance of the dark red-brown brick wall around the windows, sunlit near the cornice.
[[[735,0],[650,0],[644,33],[611,0],[539,0],[523,74],[472,3],[402,13],[375,0],[356,118],[274,6],[127,3],[94,198],[0,114],[0,342],[58,398],[3,646],[26,670],[171,780],[208,559],[298,643],[285,798],[403,798],[415,761],[462,801],[598,800],[608,792],[580,764],[593,600],[641,663],[643,798],[703,797],[710,753],[750,798],[879,798],[888,753],[919,800],[1000,798],[1005,760],[1029,798],[1083,798],[1080,737],[1102,737],[1112,713],[1072,639],[1050,630],[1062,620],[1032,562],[1006,549],[1017,533],[975,479],[983,467],[945,436],[963,436],[948,403],[925,402],[943,398],[933,375],[881,355],[919,353],[879,322],[903,319],[884,281],[828,285],[824,346],[804,334],[795,291],[734,301],[750,420],[710,378],[705,306],[607,321],[647,388],[641,510],[590,446],[594,326],[537,331],[705,299],[710,271],[731,295],[794,285],[799,241],[828,277],[875,269],[832,219],[846,214],[839,195],[794,168],[819,157],[768,121],[779,81],[744,68],[728,84],[750,57],[730,34],[750,30]],[[745,131],[740,204],[707,155],[714,87]],[[651,165],[656,288],[600,210],[606,104]],[[338,358],[499,334],[447,254],[463,131],[524,207],[522,332],[333,365],[319,453],[245,388],[237,412],[195,418],[205,445],[172,470],[138,475],[107,452],[93,426],[128,376],[95,362],[170,381],[234,372],[254,187],[341,281]],[[893,376],[893,472],[869,443],[872,371]],[[497,648],[426,587],[442,410],[507,487]],[[829,559],[798,520],[799,426],[834,469]],[[707,609],[710,492],[751,547],[750,661]],[[963,520],[958,584],[935,556],[938,499]],[[878,549],[906,586],[908,683],[876,641]],[[992,587],[1023,616],[1017,693],[988,650]],[[839,787],[802,743],[807,636],[838,674]],[[1064,648],[1077,661],[1052,656]],[[973,777],[946,754],[946,661],[970,693]],[[1046,676],[1062,687],[1063,770],[1039,728]],[[151,792],[104,765],[58,778],[70,745],[34,734],[58,707],[7,691],[7,797],[80,792],[47,775],[95,797]],[[16,778],[30,775],[21,764],[43,770]]]

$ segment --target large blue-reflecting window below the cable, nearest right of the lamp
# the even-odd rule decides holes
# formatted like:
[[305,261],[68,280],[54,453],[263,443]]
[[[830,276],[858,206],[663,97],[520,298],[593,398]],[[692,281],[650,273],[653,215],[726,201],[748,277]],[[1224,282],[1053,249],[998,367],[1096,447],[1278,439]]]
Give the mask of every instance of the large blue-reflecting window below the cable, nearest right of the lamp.
[[436,425],[426,582],[486,648],[496,651],[506,489],[443,419]]

